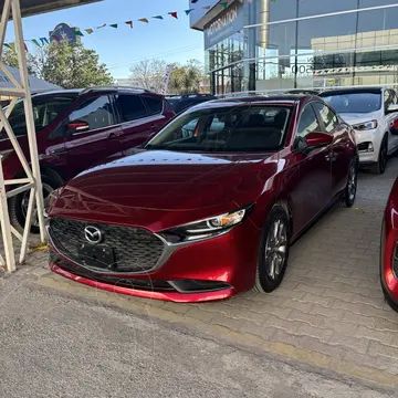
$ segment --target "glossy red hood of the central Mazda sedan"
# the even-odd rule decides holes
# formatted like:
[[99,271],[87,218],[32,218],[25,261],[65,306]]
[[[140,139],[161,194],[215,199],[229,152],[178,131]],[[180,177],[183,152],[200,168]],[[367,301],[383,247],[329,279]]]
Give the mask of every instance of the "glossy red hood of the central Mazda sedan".
[[52,203],[50,213],[97,221],[112,218],[114,222],[116,217],[122,223],[127,219],[138,222],[148,212],[159,217],[159,212],[195,210],[196,217],[208,217],[253,202],[276,170],[277,153],[137,150],[72,179]]

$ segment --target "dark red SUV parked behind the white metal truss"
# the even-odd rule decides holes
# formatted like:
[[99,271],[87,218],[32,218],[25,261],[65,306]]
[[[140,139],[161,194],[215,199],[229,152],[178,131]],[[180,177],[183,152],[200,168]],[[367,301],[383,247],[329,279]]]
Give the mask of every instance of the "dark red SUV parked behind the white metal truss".
[[[32,96],[44,200],[78,172],[109,155],[148,140],[174,112],[163,96],[143,90],[97,87],[51,91]],[[23,102],[9,122],[29,158]],[[6,179],[23,176],[21,163],[6,132],[0,137]],[[10,199],[11,222],[22,229],[29,192]],[[32,231],[38,232],[38,218]]]

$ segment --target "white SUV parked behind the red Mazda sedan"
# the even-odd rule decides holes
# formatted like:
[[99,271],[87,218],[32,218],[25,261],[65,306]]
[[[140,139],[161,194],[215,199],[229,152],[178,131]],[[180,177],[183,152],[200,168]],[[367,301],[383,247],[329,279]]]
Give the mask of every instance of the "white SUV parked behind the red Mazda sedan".
[[384,174],[388,156],[398,149],[391,124],[398,118],[397,94],[385,87],[331,90],[320,94],[356,130],[359,163]]

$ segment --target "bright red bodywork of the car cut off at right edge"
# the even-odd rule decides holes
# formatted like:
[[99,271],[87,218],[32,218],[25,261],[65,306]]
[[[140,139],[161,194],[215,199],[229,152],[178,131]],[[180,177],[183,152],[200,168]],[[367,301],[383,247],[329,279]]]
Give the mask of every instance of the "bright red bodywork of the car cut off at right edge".
[[394,270],[394,256],[398,244],[398,178],[395,181],[385,209],[381,227],[380,279],[385,294],[398,303],[398,274]]

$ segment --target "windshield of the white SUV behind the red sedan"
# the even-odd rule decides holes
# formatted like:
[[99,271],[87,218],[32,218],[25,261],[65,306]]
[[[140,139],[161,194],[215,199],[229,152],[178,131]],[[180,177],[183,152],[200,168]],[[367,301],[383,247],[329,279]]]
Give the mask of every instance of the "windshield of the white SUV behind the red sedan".
[[322,95],[337,113],[369,113],[381,108],[381,92]]

